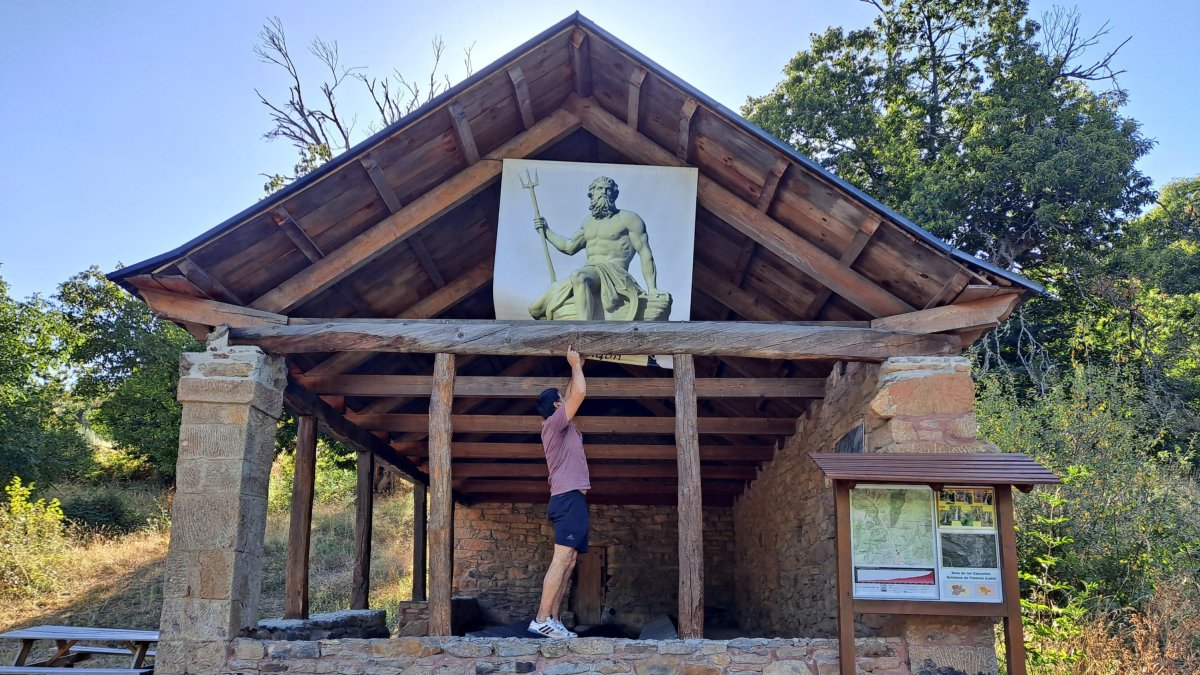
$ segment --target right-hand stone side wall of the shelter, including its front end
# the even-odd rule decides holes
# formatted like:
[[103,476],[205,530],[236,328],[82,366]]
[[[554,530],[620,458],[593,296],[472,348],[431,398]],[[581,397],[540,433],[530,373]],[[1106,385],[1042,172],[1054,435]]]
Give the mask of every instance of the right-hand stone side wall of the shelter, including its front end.
[[[974,387],[966,359],[893,358],[845,364],[826,398],[788,438],[734,507],[738,619],[751,634],[836,634],[833,488],[806,455],[833,452],[865,426],[868,453],[996,452],[976,437]],[[907,639],[913,663],[950,671],[995,673],[991,621],[860,616],[859,635]]]

